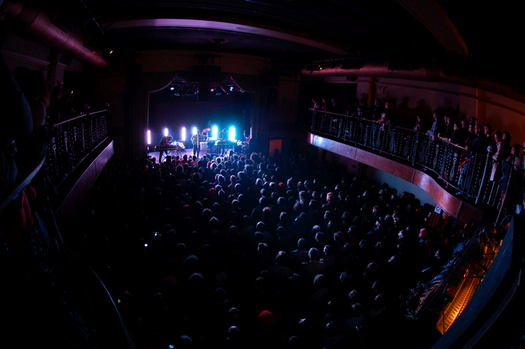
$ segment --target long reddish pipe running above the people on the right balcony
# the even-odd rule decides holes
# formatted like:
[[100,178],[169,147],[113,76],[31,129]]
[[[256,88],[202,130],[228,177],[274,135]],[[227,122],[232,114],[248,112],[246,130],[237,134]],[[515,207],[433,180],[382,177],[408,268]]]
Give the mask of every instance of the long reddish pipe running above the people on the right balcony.
[[[340,63],[340,62],[339,62]],[[489,77],[459,66],[422,66],[413,70],[389,69],[388,62],[365,62],[361,68],[343,69],[340,64],[330,68],[330,61],[316,62],[313,65],[325,65],[322,70],[309,70],[311,65],[303,66],[302,74],[311,76],[350,76],[350,77],[385,77],[393,79],[419,80],[427,82],[449,82],[487,92],[499,94],[515,101],[525,103],[525,91],[510,84],[497,82]],[[333,64],[332,64],[333,66]]]

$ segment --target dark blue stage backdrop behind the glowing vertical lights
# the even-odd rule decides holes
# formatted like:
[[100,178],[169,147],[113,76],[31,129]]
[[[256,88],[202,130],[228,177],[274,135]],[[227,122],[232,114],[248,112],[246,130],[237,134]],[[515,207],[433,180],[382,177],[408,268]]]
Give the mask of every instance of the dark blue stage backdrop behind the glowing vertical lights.
[[249,93],[242,95],[235,98],[229,98],[229,96],[212,98],[212,101],[208,103],[198,103],[187,100],[165,101],[165,98],[151,98],[154,96],[151,94],[149,101],[151,143],[160,142],[165,127],[168,128],[174,140],[180,140],[184,126],[186,127],[186,145],[189,146],[193,127],[202,131],[202,128],[210,127],[208,121],[211,121],[212,126],[217,126],[219,131],[223,128],[229,130],[230,126],[234,126],[237,139],[242,137],[244,130],[248,136],[251,126],[252,98]]

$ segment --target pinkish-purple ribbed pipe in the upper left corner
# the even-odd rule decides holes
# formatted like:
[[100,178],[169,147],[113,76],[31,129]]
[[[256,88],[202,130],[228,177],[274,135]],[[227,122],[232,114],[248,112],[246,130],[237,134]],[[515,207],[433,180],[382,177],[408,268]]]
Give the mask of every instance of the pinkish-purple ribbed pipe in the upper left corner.
[[17,34],[29,36],[37,43],[41,43],[67,56],[75,57],[87,64],[97,67],[108,66],[97,52],[84,47],[82,37],[73,33],[66,33],[51,23],[49,15],[42,8],[36,8],[28,3],[5,1],[2,12],[4,19]]

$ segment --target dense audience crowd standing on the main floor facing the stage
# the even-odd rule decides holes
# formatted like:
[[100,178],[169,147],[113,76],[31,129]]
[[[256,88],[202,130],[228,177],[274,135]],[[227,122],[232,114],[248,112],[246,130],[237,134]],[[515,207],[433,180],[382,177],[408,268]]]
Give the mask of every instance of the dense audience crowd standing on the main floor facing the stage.
[[139,348],[325,348],[443,264],[433,211],[302,155],[135,159],[69,239]]

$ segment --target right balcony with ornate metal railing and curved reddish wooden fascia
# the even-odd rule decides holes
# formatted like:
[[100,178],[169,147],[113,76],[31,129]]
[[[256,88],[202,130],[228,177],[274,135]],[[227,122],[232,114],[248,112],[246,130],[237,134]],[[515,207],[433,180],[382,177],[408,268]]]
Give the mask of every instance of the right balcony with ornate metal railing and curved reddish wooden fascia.
[[503,192],[490,180],[495,161],[447,140],[314,110],[308,142],[419,186],[460,221],[501,208]]

